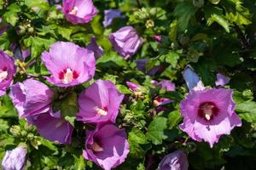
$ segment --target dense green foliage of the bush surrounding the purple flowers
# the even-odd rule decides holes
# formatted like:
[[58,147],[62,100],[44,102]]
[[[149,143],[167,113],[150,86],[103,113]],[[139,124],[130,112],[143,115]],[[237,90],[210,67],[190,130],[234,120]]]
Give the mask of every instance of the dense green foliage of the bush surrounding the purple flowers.
[[[97,83],[101,87],[103,82],[97,81],[101,79],[113,82],[108,82],[109,90],[118,89],[113,102],[121,103],[118,96],[124,98],[117,118],[109,119],[115,125],[111,129],[125,129],[130,145],[129,155],[116,169],[156,169],[161,159],[175,150],[186,153],[189,169],[255,169],[256,3],[253,0],[94,0],[93,4],[96,9],[92,9],[95,12],[91,14],[92,20],[77,23],[78,20],[68,18],[74,11],[64,14],[61,1],[0,0],[0,49],[15,59],[17,71],[13,84],[30,78],[43,82],[53,93],[52,110],[61,111],[63,120],[73,128],[70,144],[40,136],[37,122],[31,123],[26,113],[19,117],[14,94],[8,88],[0,97],[0,160],[6,150],[23,145],[27,149],[26,169],[100,168],[92,160],[84,159],[82,152],[88,150],[84,149],[85,140],[92,135],[85,135],[85,130],[101,127],[91,123],[95,120],[84,121],[79,103],[87,95],[84,89],[89,91]],[[110,8],[121,12],[107,24],[104,10]],[[138,50],[120,51],[114,44],[118,37],[112,33],[124,26],[135,29],[125,28],[129,29],[127,36],[137,32],[136,44],[130,45],[138,46]],[[91,47],[95,40],[100,47]],[[60,50],[58,53],[73,48],[70,45],[65,49],[55,42],[73,42],[95,50],[94,77],[86,72],[84,81],[73,86],[45,78],[53,74],[46,61],[54,53],[49,51],[52,44],[59,44],[55,46]],[[0,73],[4,71],[1,65],[0,59]],[[90,67],[93,70],[88,64],[88,72]],[[224,88],[233,92],[241,127],[237,122],[230,135],[221,135],[212,147],[203,140],[196,141],[180,128],[184,119],[181,101],[189,93],[192,95],[186,85],[188,81],[183,78],[185,68],[193,68],[207,88],[219,88],[215,83],[218,73],[230,78]],[[63,72],[67,82],[68,71]],[[71,78],[74,77],[73,73]],[[165,80],[173,82],[175,89],[153,83]],[[27,82],[27,86],[29,83],[32,82]],[[36,88],[34,91],[38,93]],[[159,105],[156,102],[160,98],[171,102]],[[103,110],[96,111],[105,115]],[[77,118],[78,115],[82,118]]]

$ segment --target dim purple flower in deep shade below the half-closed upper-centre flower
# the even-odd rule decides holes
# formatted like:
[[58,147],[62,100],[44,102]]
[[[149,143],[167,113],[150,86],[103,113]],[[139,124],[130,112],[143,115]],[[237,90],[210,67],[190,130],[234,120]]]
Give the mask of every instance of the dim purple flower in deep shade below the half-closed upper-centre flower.
[[160,71],[164,71],[165,67],[163,65],[154,66],[150,71],[146,71],[146,65],[148,63],[148,59],[137,59],[137,70],[146,72],[149,76],[154,76],[156,73]]

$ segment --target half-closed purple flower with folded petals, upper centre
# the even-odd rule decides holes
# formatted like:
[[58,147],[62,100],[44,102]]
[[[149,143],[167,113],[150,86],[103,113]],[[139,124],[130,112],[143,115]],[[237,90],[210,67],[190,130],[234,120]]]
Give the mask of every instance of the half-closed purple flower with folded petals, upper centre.
[[136,54],[138,48],[143,44],[143,39],[138,36],[137,31],[131,26],[125,26],[109,36],[113,48],[125,59]]

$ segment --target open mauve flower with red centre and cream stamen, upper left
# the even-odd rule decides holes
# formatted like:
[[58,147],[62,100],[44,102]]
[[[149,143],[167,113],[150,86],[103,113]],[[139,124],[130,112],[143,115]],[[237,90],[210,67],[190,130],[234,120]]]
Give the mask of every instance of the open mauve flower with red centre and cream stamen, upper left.
[[46,79],[64,88],[90,81],[96,70],[94,53],[72,42],[55,42],[42,61],[52,75]]

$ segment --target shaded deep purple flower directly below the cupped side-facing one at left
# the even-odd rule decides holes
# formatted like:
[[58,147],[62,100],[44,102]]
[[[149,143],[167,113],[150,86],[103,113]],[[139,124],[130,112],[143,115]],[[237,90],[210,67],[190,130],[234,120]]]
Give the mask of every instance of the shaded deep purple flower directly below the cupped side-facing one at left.
[[38,116],[28,117],[27,121],[35,125],[38,133],[45,139],[60,144],[71,144],[73,127],[61,117],[60,112],[52,114],[48,111]]

